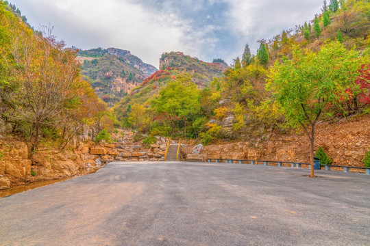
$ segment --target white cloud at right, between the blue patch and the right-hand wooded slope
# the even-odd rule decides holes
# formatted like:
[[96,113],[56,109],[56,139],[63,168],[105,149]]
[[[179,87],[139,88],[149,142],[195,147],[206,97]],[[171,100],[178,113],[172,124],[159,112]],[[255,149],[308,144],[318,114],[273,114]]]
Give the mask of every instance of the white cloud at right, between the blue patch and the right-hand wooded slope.
[[320,12],[322,0],[225,0],[230,3],[227,25],[238,37],[235,53],[226,57],[240,56],[245,43],[252,53],[258,49],[257,40],[269,40],[281,33],[314,18]]

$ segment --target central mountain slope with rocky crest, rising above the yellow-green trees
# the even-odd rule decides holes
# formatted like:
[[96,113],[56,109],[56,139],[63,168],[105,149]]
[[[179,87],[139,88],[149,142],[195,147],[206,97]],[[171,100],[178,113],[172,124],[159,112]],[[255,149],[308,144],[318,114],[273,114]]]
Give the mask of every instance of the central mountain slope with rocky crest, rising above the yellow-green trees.
[[195,57],[184,55],[181,52],[170,52],[162,54],[160,58],[160,68],[151,74],[138,87],[134,88],[130,94],[114,105],[114,111],[120,120],[127,115],[129,105],[144,104],[158,94],[160,88],[165,86],[168,81],[176,79],[177,75],[188,72],[192,81],[198,87],[205,87],[214,77],[223,77],[223,71],[228,68],[223,62],[208,63],[199,61]]

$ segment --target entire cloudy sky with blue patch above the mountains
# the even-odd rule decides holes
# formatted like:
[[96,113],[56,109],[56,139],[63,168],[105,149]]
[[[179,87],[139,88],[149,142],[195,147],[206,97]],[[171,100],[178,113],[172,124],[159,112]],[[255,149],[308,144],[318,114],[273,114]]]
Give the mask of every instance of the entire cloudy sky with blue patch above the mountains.
[[67,46],[131,51],[158,68],[162,53],[203,61],[256,53],[269,40],[321,12],[323,0],[10,0],[35,29],[53,27]]

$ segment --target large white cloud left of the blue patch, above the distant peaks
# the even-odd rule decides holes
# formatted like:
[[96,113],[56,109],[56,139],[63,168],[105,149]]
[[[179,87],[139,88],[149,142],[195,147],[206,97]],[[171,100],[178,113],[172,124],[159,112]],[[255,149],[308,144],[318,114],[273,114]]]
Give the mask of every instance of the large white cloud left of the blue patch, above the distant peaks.
[[154,66],[158,66],[164,51],[198,52],[185,36],[186,29],[191,27],[183,20],[171,13],[151,12],[132,2],[35,0],[18,3],[15,0],[14,3],[23,5],[23,14],[32,17],[29,22],[36,28],[38,23],[51,23],[56,36],[70,46],[127,49]]

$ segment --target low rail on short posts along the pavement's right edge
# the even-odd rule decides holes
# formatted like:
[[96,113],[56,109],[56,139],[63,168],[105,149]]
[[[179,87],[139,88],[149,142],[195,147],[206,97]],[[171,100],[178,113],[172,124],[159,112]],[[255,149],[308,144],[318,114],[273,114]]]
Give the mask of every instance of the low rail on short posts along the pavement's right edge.
[[[310,163],[299,163],[299,162],[291,162],[291,161],[258,161],[258,160],[239,160],[239,159],[207,159],[210,163],[214,160],[216,163],[225,162],[225,163],[234,163],[234,161],[238,161],[239,164],[243,164],[249,162],[251,165],[256,165],[256,163],[263,163],[263,165],[269,165],[269,163],[277,163],[277,166],[282,167],[282,164],[288,163],[291,164],[291,167],[302,167],[302,165],[308,165],[308,168],[311,167]],[[325,170],[330,171],[331,167],[341,167],[343,168],[343,172],[350,172],[350,169],[365,169],[365,174],[370,174],[370,167],[350,167],[350,166],[342,166],[342,165],[321,165],[320,167],[325,167]]]

